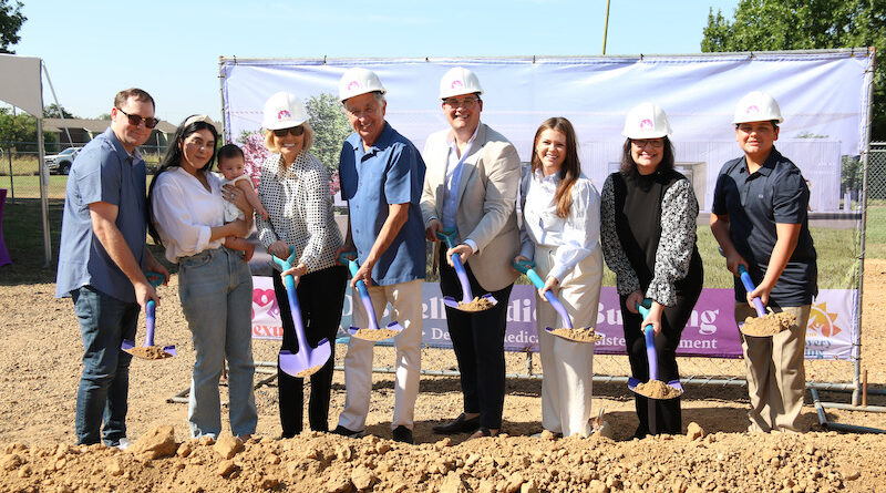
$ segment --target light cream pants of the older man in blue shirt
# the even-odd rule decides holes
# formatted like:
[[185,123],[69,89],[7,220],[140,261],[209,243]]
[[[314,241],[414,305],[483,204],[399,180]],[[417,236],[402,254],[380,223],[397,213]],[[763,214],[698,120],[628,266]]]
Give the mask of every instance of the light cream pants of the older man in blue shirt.
[[[391,320],[403,326],[394,338],[396,348],[396,378],[394,380],[394,415],[391,429],[404,425],[412,430],[415,417],[415,398],[419,396],[419,376],[422,370],[422,279],[392,286],[368,288],[372,308],[381,318],[391,304]],[[369,327],[360,294],[353,289],[353,326]],[[352,337],[344,355],[344,410],[339,424],[351,431],[365,429],[372,390],[372,352],[375,343]]]

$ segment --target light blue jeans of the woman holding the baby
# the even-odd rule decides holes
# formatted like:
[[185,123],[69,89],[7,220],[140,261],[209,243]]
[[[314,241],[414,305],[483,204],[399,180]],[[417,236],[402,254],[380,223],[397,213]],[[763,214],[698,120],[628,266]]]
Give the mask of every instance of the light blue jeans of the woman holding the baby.
[[239,254],[227,248],[203,250],[178,260],[178,296],[194,340],[187,420],[190,435],[218,438],[222,402],[218,380],[228,360],[230,431],[256,431],[253,392],[253,275]]

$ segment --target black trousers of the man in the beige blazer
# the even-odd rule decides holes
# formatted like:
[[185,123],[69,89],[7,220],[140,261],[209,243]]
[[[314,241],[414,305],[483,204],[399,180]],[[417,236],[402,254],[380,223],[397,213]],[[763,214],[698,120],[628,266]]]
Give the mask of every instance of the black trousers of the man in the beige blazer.
[[[471,291],[474,296],[490,294],[477,283],[465,265]],[[467,312],[446,307],[446,326],[462,373],[464,412],[480,413],[480,425],[493,430],[502,428],[502,411],[505,403],[505,329],[507,304],[511,298],[508,285],[492,291],[498,301],[484,311]],[[455,269],[446,264],[446,249],[440,248],[440,290],[443,296],[462,300],[462,285]]]

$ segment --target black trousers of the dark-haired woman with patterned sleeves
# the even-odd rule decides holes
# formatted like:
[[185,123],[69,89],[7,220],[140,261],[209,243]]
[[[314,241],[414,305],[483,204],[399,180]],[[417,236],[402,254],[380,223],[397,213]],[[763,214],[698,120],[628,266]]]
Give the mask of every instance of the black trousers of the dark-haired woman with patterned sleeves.
[[[699,269],[700,270],[700,269]],[[664,307],[661,315],[661,332],[656,336],[656,355],[658,356],[658,379],[663,382],[680,378],[677,368],[677,347],[680,346],[680,337],[683,328],[692,316],[692,308],[701,294],[701,280],[698,283],[698,291],[681,294],[677,297],[677,304],[672,307]],[[640,330],[643,321],[639,314],[628,311],[625,305],[626,296],[621,298],[621,319],[625,329],[625,345],[628,349],[630,360],[630,372],[633,378],[645,382],[649,380],[649,359],[646,355],[646,338]],[[676,399],[647,399],[638,393],[633,394],[637,418],[640,425],[637,428],[637,436],[646,436],[649,430],[649,408],[650,402],[656,407],[656,433],[681,434],[683,429],[683,418],[680,411],[680,398]]]

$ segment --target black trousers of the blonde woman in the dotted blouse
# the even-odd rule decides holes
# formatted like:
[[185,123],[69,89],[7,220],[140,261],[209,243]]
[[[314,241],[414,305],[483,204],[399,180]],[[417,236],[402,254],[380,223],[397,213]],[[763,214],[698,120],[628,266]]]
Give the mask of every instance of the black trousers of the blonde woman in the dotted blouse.
[[[308,345],[316,347],[323,339],[329,339],[332,356],[320,371],[311,379],[311,396],[308,404],[308,422],[311,430],[329,431],[329,396],[332,387],[332,367],[336,360],[336,332],[341,322],[341,308],[344,304],[344,288],[348,284],[348,270],[342,266],[328,267],[305,275],[299,280],[298,294],[301,321]],[[280,307],[280,319],[284,326],[284,342],[280,349],[298,351],[296,327],[289,309],[280,273],[274,273],[274,294]],[[301,432],[305,417],[305,379],[296,378],[280,369],[277,360],[278,397],[280,401],[280,425],[284,438],[292,438]]]

